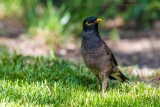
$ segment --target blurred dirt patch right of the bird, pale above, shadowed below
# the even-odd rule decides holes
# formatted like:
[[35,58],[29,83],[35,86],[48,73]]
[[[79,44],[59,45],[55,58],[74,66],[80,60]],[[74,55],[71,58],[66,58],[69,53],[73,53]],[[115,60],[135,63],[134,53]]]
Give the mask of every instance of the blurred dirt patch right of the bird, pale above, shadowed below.
[[122,65],[139,65],[141,68],[160,67],[160,39],[118,40],[106,42]]

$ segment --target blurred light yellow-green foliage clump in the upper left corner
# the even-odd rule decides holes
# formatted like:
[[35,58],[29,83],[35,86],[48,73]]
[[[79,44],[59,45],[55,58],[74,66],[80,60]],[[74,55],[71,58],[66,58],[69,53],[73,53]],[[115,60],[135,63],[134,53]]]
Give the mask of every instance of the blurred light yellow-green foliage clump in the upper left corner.
[[[53,7],[51,0],[43,6],[37,0],[0,0],[2,5],[1,19],[5,17],[17,18],[23,25],[26,35],[36,36],[39,31],[47,32],[44,37],[60,36],[63,31],[61,19]],[[52,38],[52,37],[50,37]]]

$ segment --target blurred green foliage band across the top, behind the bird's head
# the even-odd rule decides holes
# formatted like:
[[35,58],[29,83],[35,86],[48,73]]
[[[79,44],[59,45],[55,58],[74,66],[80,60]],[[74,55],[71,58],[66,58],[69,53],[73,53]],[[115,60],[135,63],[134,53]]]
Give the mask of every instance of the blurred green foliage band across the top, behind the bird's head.
[[102,18],[104,31],[106,21],[116,18],[120,20],[118,26],[112,26],[116,29],[148,29],[160,18],[159,4],[158,0],[0,0],[0,20],[17,19],[26,34],[36,35],[41,29],[66,38],[80,36],[82,22],[88,16]]

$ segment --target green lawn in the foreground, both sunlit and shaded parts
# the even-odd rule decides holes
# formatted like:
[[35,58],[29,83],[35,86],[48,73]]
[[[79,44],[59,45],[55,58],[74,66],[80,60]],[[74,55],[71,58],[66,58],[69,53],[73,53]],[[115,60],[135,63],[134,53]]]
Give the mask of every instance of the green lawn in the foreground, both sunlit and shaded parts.
[[101,98],[98,81],[85,66],[10,54],[0,47],[0,106],[160,106],[160,89],[131,81],[132,85],[108,81]]

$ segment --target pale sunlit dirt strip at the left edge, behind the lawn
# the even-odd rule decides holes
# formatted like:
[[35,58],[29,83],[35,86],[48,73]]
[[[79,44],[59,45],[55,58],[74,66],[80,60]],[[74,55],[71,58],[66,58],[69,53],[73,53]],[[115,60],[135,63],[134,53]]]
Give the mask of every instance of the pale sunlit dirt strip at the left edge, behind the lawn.
[[38,40],[32,40],[25,36],[17,38],[0,37],[0,45],[5,45],[12,53],[14,50],[18,54],[31,56],[48,56],[49,46],[40,43]]

